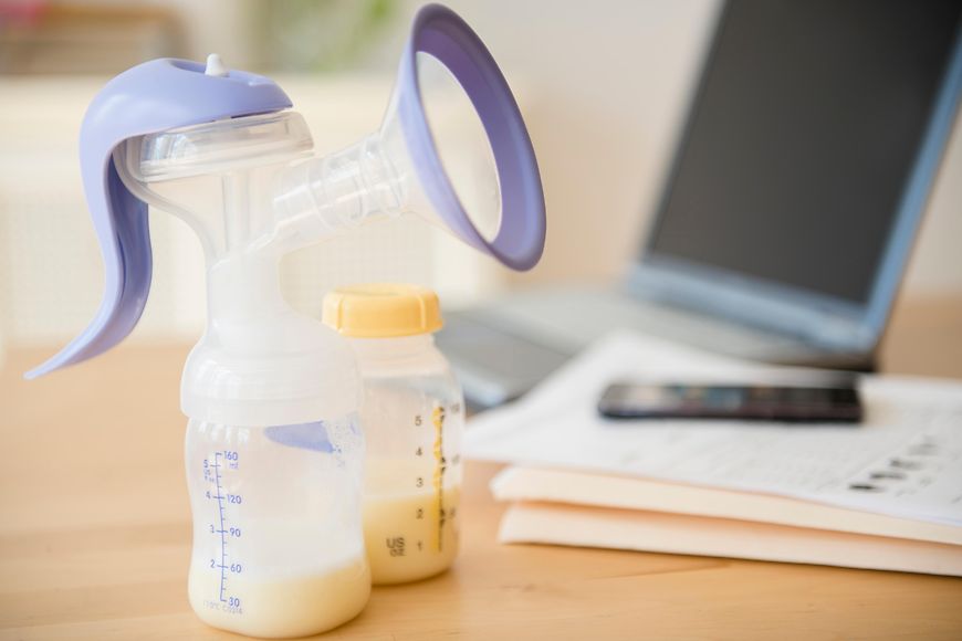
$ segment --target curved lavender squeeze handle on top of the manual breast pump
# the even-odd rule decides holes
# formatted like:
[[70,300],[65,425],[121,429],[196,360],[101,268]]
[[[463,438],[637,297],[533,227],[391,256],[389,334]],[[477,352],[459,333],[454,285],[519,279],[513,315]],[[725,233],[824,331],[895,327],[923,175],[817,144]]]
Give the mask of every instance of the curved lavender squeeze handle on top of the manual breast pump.
[[268,77],[242,71],[206,75],[203,64],[186,60],[146,62],[101,90],[81,126],[80,156],[84,195],[104,256],[104,297],[90,326],[27,378],[106,351],[134,329],[144,312],[153,265],[147,204],[121,182],[114,149],[127,138],[290,107],[291,99]]

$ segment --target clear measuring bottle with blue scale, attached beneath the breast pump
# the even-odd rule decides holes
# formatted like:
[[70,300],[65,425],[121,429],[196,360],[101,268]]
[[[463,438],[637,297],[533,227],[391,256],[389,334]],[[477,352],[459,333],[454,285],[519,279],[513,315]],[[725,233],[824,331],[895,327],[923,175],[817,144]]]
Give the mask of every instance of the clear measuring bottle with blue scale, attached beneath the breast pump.
[[286,425],[192,419],[188,597],[207,623],[301,637],[354,618],[370,574],[360,539],[356,416]]

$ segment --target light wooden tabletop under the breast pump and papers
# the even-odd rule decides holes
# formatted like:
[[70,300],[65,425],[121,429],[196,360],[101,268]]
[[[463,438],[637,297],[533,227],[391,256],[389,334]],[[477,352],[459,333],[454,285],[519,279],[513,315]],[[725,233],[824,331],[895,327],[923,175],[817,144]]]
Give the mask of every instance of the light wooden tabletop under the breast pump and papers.
[[[886,368],[962,376],[962,304],[899,312]],[[124,346],[0,378],[0,639],[221,639],[187,603],[184,346]],[[920,355],[929,356],[921,358]],[[905,367],[902,367],[905,366]],[[720,558],[502,546],[469,464],[456,567],[376,588],[332,639],[962,639],[962,580]]]

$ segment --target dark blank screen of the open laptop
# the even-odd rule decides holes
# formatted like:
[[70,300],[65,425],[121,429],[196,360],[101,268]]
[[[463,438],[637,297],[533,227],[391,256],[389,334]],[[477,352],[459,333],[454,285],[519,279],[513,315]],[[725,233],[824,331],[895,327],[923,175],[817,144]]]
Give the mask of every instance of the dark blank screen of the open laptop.
[[648,251],[868,303],[960,14],[938,0],[729,2]]

